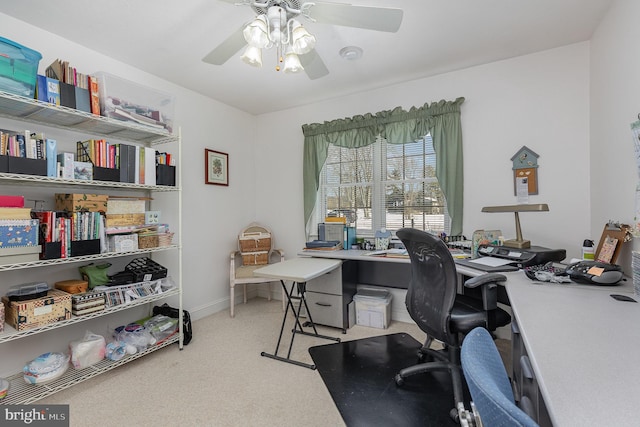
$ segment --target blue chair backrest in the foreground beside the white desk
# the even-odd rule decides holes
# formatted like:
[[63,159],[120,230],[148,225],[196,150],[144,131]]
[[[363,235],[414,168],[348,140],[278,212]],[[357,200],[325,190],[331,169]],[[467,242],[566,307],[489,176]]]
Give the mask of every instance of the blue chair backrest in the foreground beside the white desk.
[[538,425],[516,405],[504,363],[486,329],[475,328],[466,335],[460,357],[471,400],[484,426]]

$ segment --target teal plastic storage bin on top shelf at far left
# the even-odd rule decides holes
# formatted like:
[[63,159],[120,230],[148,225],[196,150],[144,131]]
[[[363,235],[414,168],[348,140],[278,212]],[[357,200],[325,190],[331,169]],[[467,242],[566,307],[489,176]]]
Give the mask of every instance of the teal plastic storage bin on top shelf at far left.
[[41,59],[39,52],[0,37],[0,90],[33,99]]

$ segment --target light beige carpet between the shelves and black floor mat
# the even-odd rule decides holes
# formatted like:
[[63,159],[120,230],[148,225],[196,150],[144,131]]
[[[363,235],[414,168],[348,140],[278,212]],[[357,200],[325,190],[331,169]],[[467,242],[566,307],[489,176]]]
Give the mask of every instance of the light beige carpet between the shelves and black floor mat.
[[[77,427],[344,426],[317,371],[260,356],[274,351],[281,322],[280,301],[255,298],[236,306],[234,319],[224,311],[194,322],[193,341],[182,351],[169,346],[36,403],[69,404]],[[397,332],[425,338],[403,322],[318,332],[342,340]],[[308,348],[332,342],[297,335],[292,357],[313,363]]]

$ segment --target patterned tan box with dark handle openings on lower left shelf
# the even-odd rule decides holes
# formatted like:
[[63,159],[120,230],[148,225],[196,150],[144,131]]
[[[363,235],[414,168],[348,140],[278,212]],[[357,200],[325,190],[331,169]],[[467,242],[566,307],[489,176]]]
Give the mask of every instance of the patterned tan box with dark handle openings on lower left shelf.
[[71,294],[52,289],[46,297],[9,301],[3,296],[5,321],[18,331],[71,319]]

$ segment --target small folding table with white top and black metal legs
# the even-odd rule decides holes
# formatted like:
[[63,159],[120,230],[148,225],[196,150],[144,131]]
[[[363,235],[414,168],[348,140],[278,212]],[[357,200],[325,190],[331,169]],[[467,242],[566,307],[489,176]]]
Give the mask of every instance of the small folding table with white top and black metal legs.
[[[294,365],[303,366],[309,369],[315,369],[315,365],[310,365],[291,359],[291,349],[293,348],[293,341],[296,337],[296,334],[309,335],[317,338],[324,338],[340,342],[340,338],[318,334],[318,331],[316,330],[315,324],[313,323],[313,319],[311,317],[311,312],[309,311],[309,307],[307,306],[307,300],[305,298],[305,284],[309,280],[315,279],[322,276],[323,274],[335,270],[341,263],[342,262],[340,260],[335,259],[292,258],[274,264],[269,264],[268,266],[258,268],[253,272],[253,274],[258,277],[280,280],[282,289],[284,290],[287,298],[287,308],[285,309],[284,317],[282,318],[282,326],[280,327],[280,335],[278,337],[276,349],[273,353],[266,353],[263,351],[262,353],[260,353],[261,356],[280,360],[282,362],[292,363]],[[285,281],[291,281],[290,289],[287,289]],[[295,293],[294,290],[296,291]],[[296,300],[298,301],[297,307],[293,304],[293,301]],[[302,325],[300,324],[300,311],[303,306],[307,313],[307,322],[305,322],[305,325],[311,326],[313,328],[313,333],[304,331],[302,329]],[[291,341],[289,343],[287,356],[281,357],[278,355],[278,350],[280,348],[282,334],[287,323],[287,315],[289,314],[289,309],[291,309],[294,315],[295,325],[292,330]]]

